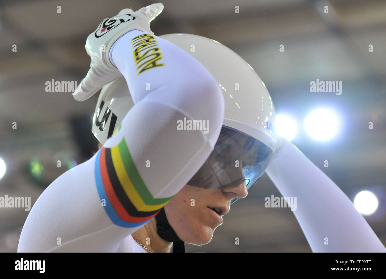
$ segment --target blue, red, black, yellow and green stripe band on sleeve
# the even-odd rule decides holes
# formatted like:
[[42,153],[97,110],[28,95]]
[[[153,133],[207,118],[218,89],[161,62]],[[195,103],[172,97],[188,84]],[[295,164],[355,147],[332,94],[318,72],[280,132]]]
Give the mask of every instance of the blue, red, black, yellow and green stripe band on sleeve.
[[107,215],[121,227],[145,224],[173,198],[152,196],[135,167],[124,138],[117,146],[98,150],[95,181],[100,199],[106,201]]

